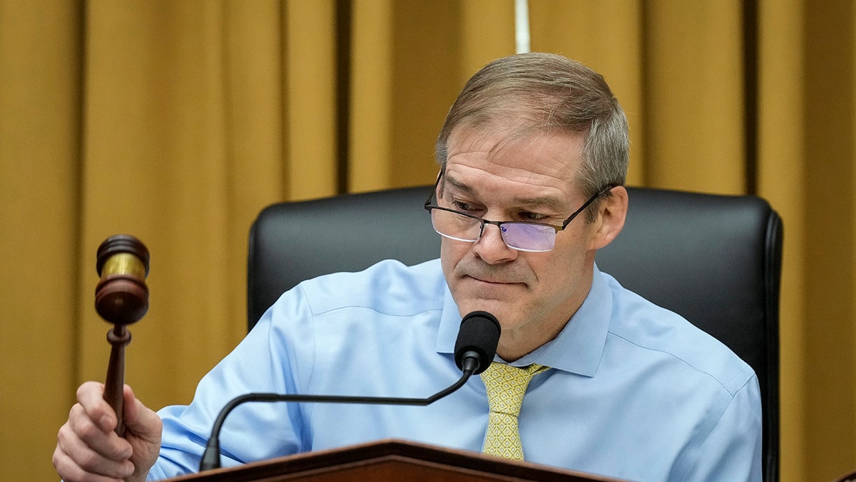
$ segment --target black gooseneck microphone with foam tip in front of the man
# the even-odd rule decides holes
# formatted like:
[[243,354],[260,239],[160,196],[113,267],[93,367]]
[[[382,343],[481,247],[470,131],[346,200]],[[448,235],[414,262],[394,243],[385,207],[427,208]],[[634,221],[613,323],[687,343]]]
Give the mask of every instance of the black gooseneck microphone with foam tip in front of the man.
[[211,437],[205,445],[202,460],[199,461],[199,472],[205,472],[220,466],[220,431],[229,413],[248,401],[298,401],[313,403],[365,403],[376,405],[409,405],[424,407],[440,400],[446,395],[460,389],[467,380],[487,370],[496,355],[499,344],[500,327],[496,316],[487,311],[473,311],[461,320],[458,338],[455,340],[455,364],[461,369],[462,375],[457,382],[448,388],[440,390],[427,398],[397,398],[377,396],[347,396],[347,395],[301,395],[301,394],[270,394],[251,393],[239,395],[229,401],[217,414]]

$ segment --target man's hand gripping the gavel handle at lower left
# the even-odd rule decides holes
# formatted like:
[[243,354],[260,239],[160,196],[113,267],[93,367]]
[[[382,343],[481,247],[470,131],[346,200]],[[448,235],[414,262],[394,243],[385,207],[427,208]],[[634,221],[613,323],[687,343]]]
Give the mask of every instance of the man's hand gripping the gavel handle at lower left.
[[86,382],[56,435],[53,464],[66,482],[141,481],[158,460],[163,424],[157,413],[124,387],[125,437],[116,435],[116,413],[104,401],[104,384]]

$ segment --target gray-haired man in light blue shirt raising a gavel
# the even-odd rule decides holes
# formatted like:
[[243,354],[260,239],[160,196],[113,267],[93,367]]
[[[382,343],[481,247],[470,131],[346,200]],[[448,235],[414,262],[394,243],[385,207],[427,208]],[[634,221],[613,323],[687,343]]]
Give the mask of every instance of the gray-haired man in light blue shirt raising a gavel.
[[[461,316],[486,310],[502,326],[489,371],[535,373],[519,415],[526,460],[631,480],[760,480],[752,369],[597,270],[627,213],[627,149],[624,113],[591,69],[549,54],[490,63],[437,141],[425,208],[443,236],[440,260],[301,283],[191,405],[155,414],[126,389],[125,440],[101,386],[84,384],[59,431],[58,473],[193,472],[217,412],[247,392],[430,395],[460,376]],[[247,404],[223,427],[224,465],[387,437],[487,450],[484,380],[428,407]]]

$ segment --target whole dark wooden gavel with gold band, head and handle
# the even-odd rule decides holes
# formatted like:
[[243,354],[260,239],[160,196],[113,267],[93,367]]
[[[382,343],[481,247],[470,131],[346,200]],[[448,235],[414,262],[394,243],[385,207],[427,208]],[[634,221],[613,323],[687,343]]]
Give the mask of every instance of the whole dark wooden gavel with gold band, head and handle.
[[149,309],[149,250],[139,239],[117,234],[98,246],[98,275],[95,287],[95,310],[115,326],[107,332],[110,341],[110,364],[104,383],[104,400],[116,412],[116,433],[125,433],[123,391],[125,385],[125,346],[131,333],[125,328],[146,315]]

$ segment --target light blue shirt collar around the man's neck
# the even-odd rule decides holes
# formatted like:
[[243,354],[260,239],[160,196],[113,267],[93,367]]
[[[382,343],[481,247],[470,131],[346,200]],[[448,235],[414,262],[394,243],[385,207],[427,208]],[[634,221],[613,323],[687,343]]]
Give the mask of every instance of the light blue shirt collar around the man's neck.
[[[538,363],[585,377],[594,377],[606,344],[611,312],[612,292],[595,265],[591,290],[565,328],[562,328],[556,338],[515,360],[511,365]],[[440,318],[440,332],[437,336],[437,352],[455,352],[455,340],[460,327],[461,314],[447,286]]]

